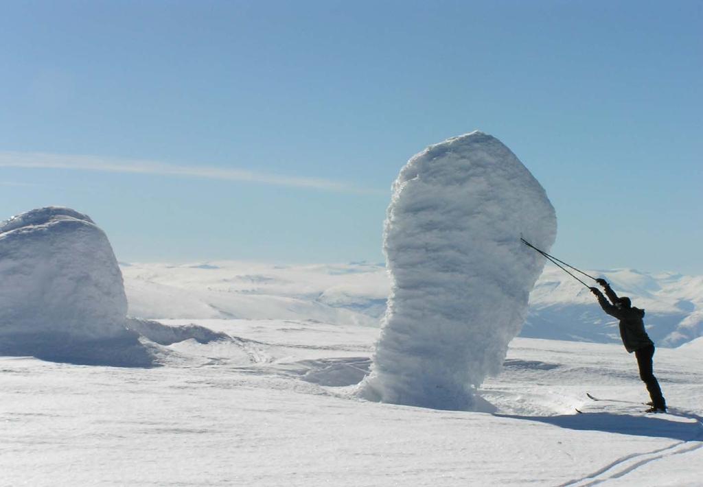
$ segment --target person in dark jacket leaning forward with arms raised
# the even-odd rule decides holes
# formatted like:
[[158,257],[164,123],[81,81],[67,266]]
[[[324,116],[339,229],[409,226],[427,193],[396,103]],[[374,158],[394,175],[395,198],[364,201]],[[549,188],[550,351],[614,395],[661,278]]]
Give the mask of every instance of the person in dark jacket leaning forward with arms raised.
[[[648,413],[666,413],[666,401],[662,396],[657,377],[652,370],[652,357],[654,357],[654,342],[645,330],[642,318],[645,310],[635,308],[628,297],[618,297],[605,279],[596,279],[596,282],[605,289],[610,303],[605,299],[598,287],[591,287],[591,292],[598,297],[600,307],[610,316],[620,320],[620,338],[628,353],[635,352],[637,365],[640,369],[640,379],[647,385],[647,391],[652,398],[652,408]],[[611,304],[612,303],[612,304]]]

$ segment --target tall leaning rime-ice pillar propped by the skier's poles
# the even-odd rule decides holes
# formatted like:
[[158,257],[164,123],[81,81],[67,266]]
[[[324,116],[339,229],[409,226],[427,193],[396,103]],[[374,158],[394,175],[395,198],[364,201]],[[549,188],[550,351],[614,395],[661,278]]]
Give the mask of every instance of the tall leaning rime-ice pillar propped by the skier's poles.
[[393,184],[384,251],[392,278],[373,368],[374,401],[480,410],[475,395],[520,332],[556,217],[520,160],[479,131],[415,155]]

